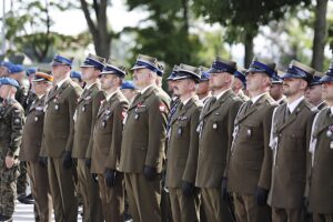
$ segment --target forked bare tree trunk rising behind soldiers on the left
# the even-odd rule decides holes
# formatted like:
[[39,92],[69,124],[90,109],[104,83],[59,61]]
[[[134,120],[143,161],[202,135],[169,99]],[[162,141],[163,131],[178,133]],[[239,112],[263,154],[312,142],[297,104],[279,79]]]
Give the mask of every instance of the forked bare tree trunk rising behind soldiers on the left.
[[[114,33],[107,16],[108,0],[93,0],[92,3],[80,0],[81,8],[87,20],[90,33],[92,36],[95,53],[98,56],[109,58],[111,52],[112,38],[118,38],[119,33]],[[95,20],[92,18],[94,14]]]

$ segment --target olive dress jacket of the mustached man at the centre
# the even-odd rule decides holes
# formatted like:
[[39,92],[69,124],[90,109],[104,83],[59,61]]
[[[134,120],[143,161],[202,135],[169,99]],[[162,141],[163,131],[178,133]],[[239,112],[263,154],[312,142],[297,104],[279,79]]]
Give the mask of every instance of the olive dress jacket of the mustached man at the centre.
[[202,102],[191,98],[185,105],[180,104],[171,119],[171,135],[168,147],[167,186],[181,188],[182,181],[195,182],[198,164],[196,132]]

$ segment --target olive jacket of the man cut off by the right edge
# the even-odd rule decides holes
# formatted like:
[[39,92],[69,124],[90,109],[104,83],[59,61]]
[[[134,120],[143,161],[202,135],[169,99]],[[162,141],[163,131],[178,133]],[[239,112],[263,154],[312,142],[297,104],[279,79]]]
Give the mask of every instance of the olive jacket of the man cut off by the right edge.
[[[333,214],[333,115],[323,109],[315,122],[312,137],[316,138],[313,167],[310,178],[309,210],[314,213]],[[330,129],[329,129],[330,128]],[[331,137],[327,131],[331,131]]]

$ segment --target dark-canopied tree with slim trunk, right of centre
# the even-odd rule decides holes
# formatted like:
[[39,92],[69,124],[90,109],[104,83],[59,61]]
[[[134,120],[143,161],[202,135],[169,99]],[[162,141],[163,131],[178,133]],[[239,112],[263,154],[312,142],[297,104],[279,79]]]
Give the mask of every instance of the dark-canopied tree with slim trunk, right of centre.
[[244,65],[248,67],[253,57],[253,39],[259,32],[259,27],[282,19],[285,12],[300,3],[309,4],[310,0],[194,0],[194,11],[210,23],[220,22],[230,32],[239,32],[235,41],[241,39],[244,44]]

